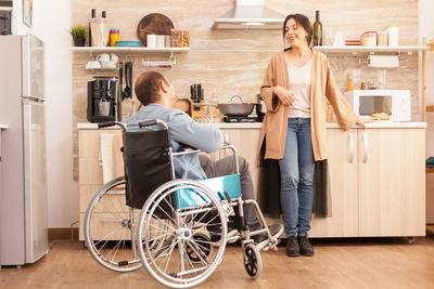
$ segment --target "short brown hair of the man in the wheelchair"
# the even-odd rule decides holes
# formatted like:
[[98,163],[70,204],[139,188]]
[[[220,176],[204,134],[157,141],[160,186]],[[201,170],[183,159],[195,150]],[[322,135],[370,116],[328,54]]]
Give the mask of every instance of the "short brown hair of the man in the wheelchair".
[[169,84],[167,79],[157,71],[146,71],[136,80],[136,96],[141,104],[148,105],[159,100],[159,83],[164,81]]

